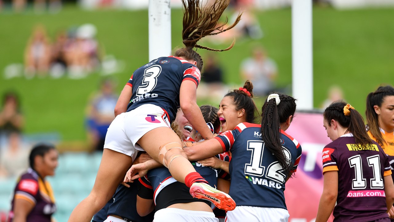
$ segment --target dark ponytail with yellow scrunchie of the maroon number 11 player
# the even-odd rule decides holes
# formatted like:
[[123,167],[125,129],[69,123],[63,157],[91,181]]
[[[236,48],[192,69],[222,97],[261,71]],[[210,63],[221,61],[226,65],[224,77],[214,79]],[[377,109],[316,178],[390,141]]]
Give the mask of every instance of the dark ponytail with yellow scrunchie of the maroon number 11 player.
[[348,128],[346,132],[353,134],[356,143],[366,145],[371,143],[371,138],[368,136],[364,125],[364,119],[360,113],[355,109],[349,109],[350,115],[344,114],[344,107],[346,103],[343,101],[331,103],[323,112],[323,118],[331,126],[331,120],[335,120],[342,127]]

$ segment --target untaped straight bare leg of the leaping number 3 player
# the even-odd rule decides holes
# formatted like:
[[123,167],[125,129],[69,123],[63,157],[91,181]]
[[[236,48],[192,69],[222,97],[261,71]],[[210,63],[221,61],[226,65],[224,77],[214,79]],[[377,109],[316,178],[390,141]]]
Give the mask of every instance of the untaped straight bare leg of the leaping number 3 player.
[[131,156],[104,149],[92,191],[74,208],[68,221],[90,222],[93,215],[112,198],[132,161]]

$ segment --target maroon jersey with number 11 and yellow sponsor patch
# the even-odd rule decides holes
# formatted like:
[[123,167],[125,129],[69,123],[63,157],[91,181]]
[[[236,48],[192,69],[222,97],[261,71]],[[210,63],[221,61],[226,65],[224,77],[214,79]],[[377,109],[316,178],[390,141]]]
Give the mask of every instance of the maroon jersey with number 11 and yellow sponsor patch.
[[334,221],[367,222],[387,218],[384,178],[391,174],[383,149],[371,140],[361,146],[345,134],[323,149],[323,173],[338,171]]

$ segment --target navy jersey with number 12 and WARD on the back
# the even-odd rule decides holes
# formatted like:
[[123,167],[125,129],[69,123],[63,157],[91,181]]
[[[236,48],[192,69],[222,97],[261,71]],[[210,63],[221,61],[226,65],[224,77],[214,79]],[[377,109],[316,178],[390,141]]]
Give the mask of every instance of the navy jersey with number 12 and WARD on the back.
[[[230,196],[237,206],[286,208],[285,183],[288,179],[272,152],[265,147],[261,125],[240,123],[235,130],[215,137],[223,151],[231,151]],[[299,143],[281,130],[281,143],[287,158],[297,169],[301,158]]]

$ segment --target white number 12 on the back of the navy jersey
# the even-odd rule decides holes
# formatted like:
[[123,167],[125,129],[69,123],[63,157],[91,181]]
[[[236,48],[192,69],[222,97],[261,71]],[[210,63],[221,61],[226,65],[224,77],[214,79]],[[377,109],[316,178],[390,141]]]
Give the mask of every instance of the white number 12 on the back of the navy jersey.
[[[249,140],[247,142],[247,150],[252,151],[250,164],[245,164],[245,174],[262,177],[266,166],[263,166],[263,154],[264,154],[264,142],[261,140]],[[290,162],[290,152],[287,149],[283,149],[286,159]],[[272,162],[267,167],[266,177],[284,183],[286,175],[283,173],[283,168],[278,161]]]

